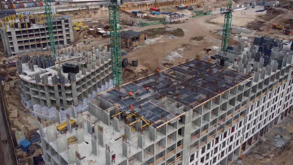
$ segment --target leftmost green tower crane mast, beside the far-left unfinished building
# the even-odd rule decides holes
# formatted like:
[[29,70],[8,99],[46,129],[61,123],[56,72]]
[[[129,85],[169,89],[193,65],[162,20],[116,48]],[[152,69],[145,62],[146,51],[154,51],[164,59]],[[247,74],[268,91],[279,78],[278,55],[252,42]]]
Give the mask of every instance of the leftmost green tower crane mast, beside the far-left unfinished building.
[[52,24],[52,8],[51,5],[54,5],[55,0],[44,0],[45,5],[45,14],[47,19],[47,26],[49,32],[49,40],[50,40],[50,47],[51,47],[51,54],[56,61],[56,46],[55,46],[55,38],[54,38],[54,30]]

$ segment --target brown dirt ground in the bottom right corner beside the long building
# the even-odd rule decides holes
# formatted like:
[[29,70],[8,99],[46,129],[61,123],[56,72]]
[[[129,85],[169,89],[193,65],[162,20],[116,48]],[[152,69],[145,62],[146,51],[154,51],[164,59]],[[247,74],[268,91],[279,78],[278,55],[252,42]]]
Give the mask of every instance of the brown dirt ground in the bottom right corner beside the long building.
[[[232,165],[292,165],[293,162],[293,114],[275,126],[264,136],[264,142],[258,142],[250,151],[241,156]],[[281,148],[274,142],[286,139]],[[273,143],[270,141],[273,141]]]

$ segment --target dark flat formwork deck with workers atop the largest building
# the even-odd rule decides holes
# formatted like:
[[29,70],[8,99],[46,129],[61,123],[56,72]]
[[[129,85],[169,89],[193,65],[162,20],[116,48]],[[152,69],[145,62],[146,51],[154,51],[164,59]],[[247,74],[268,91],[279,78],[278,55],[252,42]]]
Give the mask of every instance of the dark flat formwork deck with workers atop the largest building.
[[[143,116],[157,127],[250,78],[249,75],[202,60],[190,60],[163,70],[159,75],[152,74],[98,96],[109,103],[118,103],[120,111]],[[145,87],[150,89],[147,91]],[[129,91],[133,92],[132,98],[129,97]],[[122,96],[121,100],[119,95]],[[172,105],[174,100],[182,105]],[[130,109],[131,104],[133,110]],[[183,105],[184,108],[178,108]]]

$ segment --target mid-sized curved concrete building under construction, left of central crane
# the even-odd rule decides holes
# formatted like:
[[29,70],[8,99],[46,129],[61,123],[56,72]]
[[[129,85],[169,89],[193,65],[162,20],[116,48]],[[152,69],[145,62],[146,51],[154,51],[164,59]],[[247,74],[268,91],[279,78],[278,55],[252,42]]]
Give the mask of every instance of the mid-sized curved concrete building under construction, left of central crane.
[[85,111],[96,93],[113,87],[112,60],[106,46],[58,55],[56,64],[52,57],[22,56],[16,67],[24,105],[36,116],[64,120],[69,109]]

